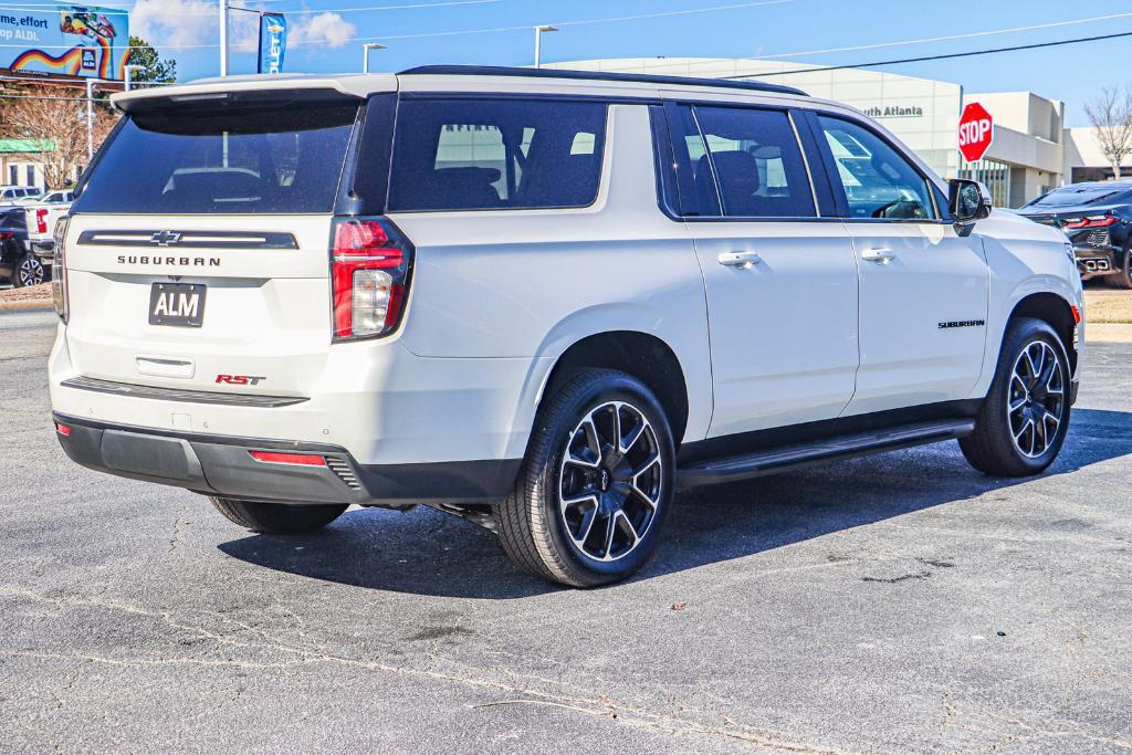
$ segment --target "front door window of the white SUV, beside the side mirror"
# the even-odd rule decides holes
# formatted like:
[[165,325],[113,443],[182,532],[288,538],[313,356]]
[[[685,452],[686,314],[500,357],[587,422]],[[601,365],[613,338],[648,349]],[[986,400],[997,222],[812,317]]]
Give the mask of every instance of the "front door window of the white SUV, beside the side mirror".
[[934,220],[932,191],[908,160],[873,131],[820,115],[849,203],[849,216],[874,220]]

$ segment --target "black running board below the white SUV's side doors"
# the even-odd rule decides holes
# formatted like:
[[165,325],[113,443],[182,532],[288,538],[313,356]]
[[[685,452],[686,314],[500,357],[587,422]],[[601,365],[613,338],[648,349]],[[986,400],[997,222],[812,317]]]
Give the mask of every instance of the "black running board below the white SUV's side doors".
[[734,482],[839,458],[867,456],[885,451],[953,440],[974,431],[975,420],[963,419],[904,424],[886,430],[873,430],[794,446],[781,446],[740,456],[691,464],[679,470],[679,483],[684,487],[694,487]]

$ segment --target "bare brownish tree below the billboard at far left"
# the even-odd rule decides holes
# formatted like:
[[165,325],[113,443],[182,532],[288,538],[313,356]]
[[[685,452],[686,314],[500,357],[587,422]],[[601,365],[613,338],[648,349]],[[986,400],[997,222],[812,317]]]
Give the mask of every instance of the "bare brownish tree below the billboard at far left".
[[[49,188],[60,189],[87,163],[86,100],[82,89],[27,87],[3,112],[3,135],[31,143],[24,160],[40,165]],[[106,138],[118,118],[102,103],[94,106],[94,147]]]

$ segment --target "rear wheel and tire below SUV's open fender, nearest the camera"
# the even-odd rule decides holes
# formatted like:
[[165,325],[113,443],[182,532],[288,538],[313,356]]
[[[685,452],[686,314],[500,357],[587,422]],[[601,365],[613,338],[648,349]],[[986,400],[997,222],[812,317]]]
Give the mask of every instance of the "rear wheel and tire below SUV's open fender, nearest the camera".
[[515,489],[496,506],[504,550],[572,587],[624,580],[660,541],[675,466],[668,418],[644,384],[615,370],[576,372],[548,392]]

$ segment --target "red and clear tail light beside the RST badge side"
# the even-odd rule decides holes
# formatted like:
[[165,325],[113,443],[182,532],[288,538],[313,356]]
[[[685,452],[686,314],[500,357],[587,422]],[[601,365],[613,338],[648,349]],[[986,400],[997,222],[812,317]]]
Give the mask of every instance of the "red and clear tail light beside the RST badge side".
[[337,220],[331,257],[334,337],[393,333],[405,307],[412,266],[412,244],[388,220]]

